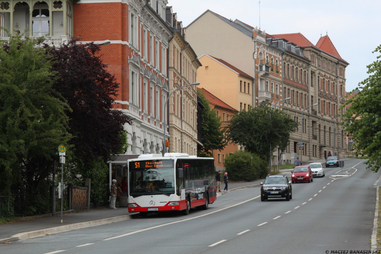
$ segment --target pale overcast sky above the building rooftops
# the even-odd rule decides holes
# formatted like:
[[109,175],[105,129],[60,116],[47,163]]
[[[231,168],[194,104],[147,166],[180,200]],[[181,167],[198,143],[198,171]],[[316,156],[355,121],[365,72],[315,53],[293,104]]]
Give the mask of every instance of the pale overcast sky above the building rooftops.
[[[259,27],[258,0],[168,0],[187,26],[204,11]],[[301,33],[314,45],[320,34],[331,38],[346,68],[346,91],[368,77],[367,65],[381,44],[381,0],[261,0],[261,30],[268,34]]]

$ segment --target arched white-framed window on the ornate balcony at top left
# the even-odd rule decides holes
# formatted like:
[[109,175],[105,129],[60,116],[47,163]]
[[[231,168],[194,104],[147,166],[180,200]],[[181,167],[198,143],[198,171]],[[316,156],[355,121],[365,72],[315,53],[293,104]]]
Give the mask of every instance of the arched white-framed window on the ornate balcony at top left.
[[[49,7],[45,2],[35,4],[32,13],[32,34],[43,36],[49,34]],[[70,9],[71,10],[71,9]]]

